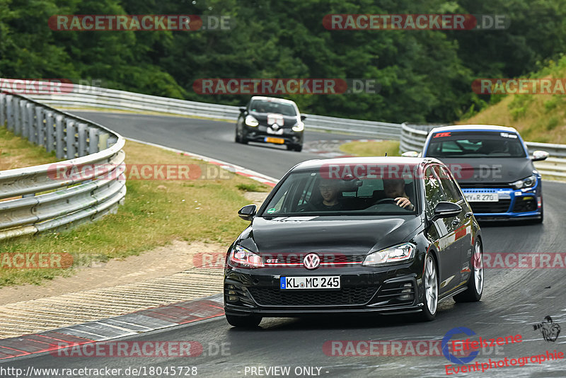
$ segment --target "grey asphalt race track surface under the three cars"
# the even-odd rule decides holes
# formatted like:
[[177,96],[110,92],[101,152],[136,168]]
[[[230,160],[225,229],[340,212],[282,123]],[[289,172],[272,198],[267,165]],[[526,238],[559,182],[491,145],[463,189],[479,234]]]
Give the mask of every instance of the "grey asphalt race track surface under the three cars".
[[[145,115],[81,115],[100,122],[125,137],[230,161],[276,178],[299,161],[317,157],[315,154],[296,153],[279,147],[235,144],[233,125],[227,122]],[[355,139],[335,134],[306,134],[306,140],[340,138]],[[564,184],[544,183],[543,224],[482,224],[485,252],[565,253],[564,189]],[[252,367],[290,367],[288,377],[446,377],[445,365],[450,365],[450,362],[444,355],[415,356],[409,350],[403,356],[340,356],[332,355],[332,350],[323,349],[323,345],[329,340],[441,340],[452,328],[467,327],[475,332],[473,338],[504,338],[516,334],[522,336],[521,343],[505,345],[498,350],[486,348],[470,363],[542,355],[547,350],[566,354],[565,273],[566,270],[560,268],[486,269],[481,302],[455,304],[448,299],[439,305],[437,319],[428,323],[413,321],[410,315],[332,316],[316,319],[264,319],[260,328],[241,330],[231,328],[221,317],[124,339],[159,342],[194,340],[204,348],[202,355],[198,357],[54,357],[43,354],[11,360],[0,364],[0,367],[21,367],[24,370],[28,366],[91,369],[120,367],[122,374],[127,367],[145,367],[146,377],[158,376],[156,373],[149,374],[150,367],[164,369],[173,365],[197,367],[197,376],[200,377],[279,376],[275,374],[279,370],[269,373],[266,370],[255,370],[253,374]],[[547,315],[552,316],[554,323],[563,328],[560,337],[554,342],[543,340],[541,332],[533,329],[533,323],[543,321]],[[455,338],[466,337],[459,333]],[[221,345],[224,345],[224,353],[218,350]],[[335,350],[335,354],[340,351],[343,349]],[[366,351],[366,348],[360,349],[362,353]],[[303,367],[315,368],[313,373],[308,374],[308,370],[302,369]],[[185,370],[182,375],[184,374]],[[454,375],[566,377],[566,360],[538,364],[529,358],[529,362],[522,367],[492,367],[485,372],[461,372]],[[161,377],[167,376],[173,375],[161,374]],[[76,374],[73,377],[94,376]]]

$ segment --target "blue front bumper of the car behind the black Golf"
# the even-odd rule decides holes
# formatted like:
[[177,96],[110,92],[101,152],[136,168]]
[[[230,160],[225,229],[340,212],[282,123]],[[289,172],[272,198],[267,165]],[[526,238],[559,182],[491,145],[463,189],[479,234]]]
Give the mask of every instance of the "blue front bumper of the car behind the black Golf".
[[497,193],[497,202],[469,202],[473,214],[482,220],[539,219],[543,213],[540,181],[533,188],[462,188],[466,193]]

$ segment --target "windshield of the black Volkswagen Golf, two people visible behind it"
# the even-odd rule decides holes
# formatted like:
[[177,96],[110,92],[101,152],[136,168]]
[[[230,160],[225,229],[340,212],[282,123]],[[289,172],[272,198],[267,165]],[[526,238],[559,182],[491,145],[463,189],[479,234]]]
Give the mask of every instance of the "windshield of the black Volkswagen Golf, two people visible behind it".
[[301,171],[285,179],[260,217],[415,214],[415,193],[412,178],[342,180],[328,179],[320,171]]

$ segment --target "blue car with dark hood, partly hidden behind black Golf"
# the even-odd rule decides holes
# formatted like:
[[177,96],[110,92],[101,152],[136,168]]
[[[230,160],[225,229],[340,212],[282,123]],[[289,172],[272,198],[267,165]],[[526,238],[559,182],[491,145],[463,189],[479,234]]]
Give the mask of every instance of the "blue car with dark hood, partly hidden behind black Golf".
[[422,156],[449,166],[478,219],[543,222],[541,174],[533,161],[546,159],[548,153],[529,156],[513,127],[437,127],[429,133]]

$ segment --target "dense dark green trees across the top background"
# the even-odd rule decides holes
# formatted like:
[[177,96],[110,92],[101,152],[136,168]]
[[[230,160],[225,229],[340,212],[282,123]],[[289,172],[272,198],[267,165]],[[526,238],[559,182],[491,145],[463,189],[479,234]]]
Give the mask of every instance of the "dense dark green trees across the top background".
[[[291,96],[306,113],[446,122],[478,110],[475,78],[512,77],[565,51],[563,0],[0,0],[0,77],[103,86],[239,105],[201,78],[367,78],[377,94]],[[329,13],[489,13],[507,30],[327,30]],[[55,31],[56,14],[231,16],[230,31]]]

